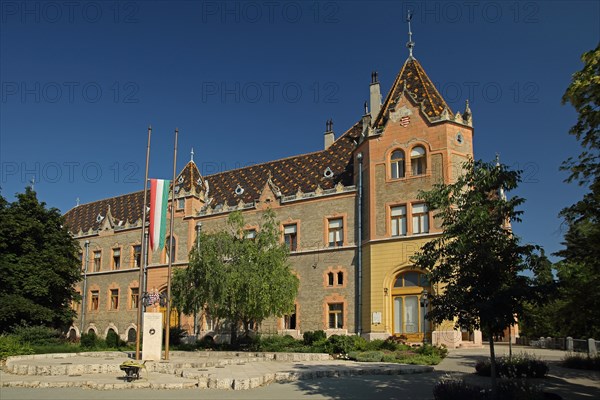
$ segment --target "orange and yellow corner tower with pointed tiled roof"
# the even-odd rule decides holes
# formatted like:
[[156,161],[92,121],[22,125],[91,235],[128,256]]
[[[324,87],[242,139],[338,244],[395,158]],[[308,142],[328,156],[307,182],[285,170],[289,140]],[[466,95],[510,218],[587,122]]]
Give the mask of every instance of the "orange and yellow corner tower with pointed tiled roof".
[[410,28],[407,47],[383,104],[371,104],[363,117],[355,150],[362,156],[365,193],[360,323],[371,339],[403,335],[455,346],[460,340],[453,327],[434,327],[425,318],[423,293],[436,288],[412,266],[411,256],[441,232],[419,191],[452,182],[472,157],[472,115],[468,103],[463,114],[453,112],[440,95],[413,54]]

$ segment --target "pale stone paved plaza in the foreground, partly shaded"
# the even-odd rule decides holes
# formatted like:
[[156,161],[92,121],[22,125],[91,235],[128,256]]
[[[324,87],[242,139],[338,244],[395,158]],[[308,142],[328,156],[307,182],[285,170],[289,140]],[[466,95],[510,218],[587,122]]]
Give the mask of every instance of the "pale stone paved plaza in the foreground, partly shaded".
[[[565,353],[519,348],[546,360],[550,373],[533,380],[564,399],[600,398],[600,372],[560,367]],[[497,346],[497,354],[508,353]],[[431,399],[442,376],[473,374],[488,348],[458,349],[435,367],[331,360],[327,355],[286,353],[171,353],[169,362],[147,363],[142,378],[128,383],[119,370],[127,353],[47,355],[11,359],[0,373],[0,398],[9,399]],[[10,371],[10,372],[7,372]]]

